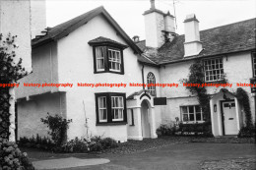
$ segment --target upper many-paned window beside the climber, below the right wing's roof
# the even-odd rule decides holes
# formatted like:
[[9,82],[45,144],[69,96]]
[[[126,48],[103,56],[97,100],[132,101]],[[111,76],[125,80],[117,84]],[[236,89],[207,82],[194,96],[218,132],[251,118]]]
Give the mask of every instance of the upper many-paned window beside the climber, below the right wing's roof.
[[205,81],[222,81],[224,75],[224,64],[222,58],[208,59],[204,61]]

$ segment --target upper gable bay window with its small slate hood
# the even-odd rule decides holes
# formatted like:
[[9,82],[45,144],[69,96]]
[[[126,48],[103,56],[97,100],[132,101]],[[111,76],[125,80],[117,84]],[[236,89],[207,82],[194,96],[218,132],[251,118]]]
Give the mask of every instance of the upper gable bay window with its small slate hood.
[[95,74],[124,74],[123,49],[127,46],[105,37],[97,37],[89,41],[93,46]]

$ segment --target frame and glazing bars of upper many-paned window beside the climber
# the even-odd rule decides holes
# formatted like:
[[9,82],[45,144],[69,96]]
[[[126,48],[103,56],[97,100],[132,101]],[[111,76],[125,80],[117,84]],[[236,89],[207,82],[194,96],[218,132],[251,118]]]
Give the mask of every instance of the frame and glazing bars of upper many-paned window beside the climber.
[[[211,63],[211,67],[212,67],[212,69],[211,70],[206,70],[206,65],[205,65],[205,62],[208,62],[208,61],[210,61],[210,60],[215,60],[215,62],[216,62],[216,60],[220,60],[220,61],[222,61],[222,64],[223,64],[223,67],[221,68],[221,66],[220,66],[220,63],[219,63],[219,69],[218,70],[220,70],[220,79],[218,80],[218,79],[216,79],[216,80],[212,80],[212,81],[207,81],[207,72],[214,72],[214,71],[218,71],[216,68],[215,69],[213,69],[213,66],[212,66],[212,63]],[[204,80],[205,80],[205,83],[214,83],[214,82],[222,82],[223,81],[223,76],[224,76],[224,59],[223,59],[223,57],[216,57],[216,58],[208,58],[208,59],[204,59],[203,60],[203,68],[204,68]],[[223,70],[223,73],[222,73],[222,70]],[[218,74],[216,73],[215,75],[213,75],[213,76],[218,76]]]

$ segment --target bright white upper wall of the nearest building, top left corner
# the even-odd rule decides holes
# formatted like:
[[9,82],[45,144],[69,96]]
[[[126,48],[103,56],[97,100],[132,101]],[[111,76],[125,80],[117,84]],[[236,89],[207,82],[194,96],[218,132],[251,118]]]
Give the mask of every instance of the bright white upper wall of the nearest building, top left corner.
[[0,33],[4,37],[11,33],[17,35],[17,59],[23,58],[23,66],[32,70],[31,48],[31,5],[30,1],[0,1]]

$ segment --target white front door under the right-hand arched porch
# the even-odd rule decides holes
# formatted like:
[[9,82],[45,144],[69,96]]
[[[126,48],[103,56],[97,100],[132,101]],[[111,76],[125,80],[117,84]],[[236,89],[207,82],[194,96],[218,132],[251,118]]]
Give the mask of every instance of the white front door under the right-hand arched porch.
[[223,102],[223,114],[224,114],[224,135],[237,135],[237,119],[235,113],[234,101]]

